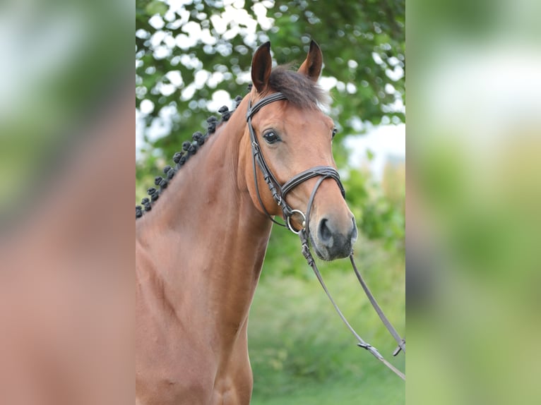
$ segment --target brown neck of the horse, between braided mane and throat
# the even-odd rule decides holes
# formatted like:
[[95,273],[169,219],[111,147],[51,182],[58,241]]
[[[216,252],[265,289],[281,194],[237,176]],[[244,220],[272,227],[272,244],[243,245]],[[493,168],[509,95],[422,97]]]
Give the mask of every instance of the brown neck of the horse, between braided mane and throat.
[[220,337],[246,322],[271,231],[244,178],[246,104],[179,170],[139,233],[164,301]]

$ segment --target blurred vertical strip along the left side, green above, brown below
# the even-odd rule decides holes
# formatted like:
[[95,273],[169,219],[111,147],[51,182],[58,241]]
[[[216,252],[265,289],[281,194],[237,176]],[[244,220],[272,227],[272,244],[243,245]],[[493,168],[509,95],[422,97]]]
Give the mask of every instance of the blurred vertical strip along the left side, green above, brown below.
[[0,4],[0,404],[133,401],[130,8]]

